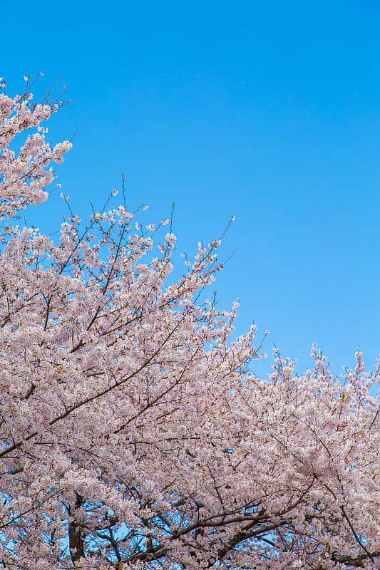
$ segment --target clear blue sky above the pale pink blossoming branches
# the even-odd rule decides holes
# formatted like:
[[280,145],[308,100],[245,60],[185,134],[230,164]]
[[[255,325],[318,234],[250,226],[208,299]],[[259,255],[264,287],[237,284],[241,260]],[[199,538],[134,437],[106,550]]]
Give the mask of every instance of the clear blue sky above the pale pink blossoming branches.
[[[71,138],[59,168],[83,217],[125,173],[147,223],[175,201],[178,249],[217,237],[235,256],[217,280],[237,333],[333,371],[380,352],[379,48],[376,0],[0,0],[9,93],[43,71],[73,103],[51,120]],[[6,53],[6,56],[4,54]],[[36,93],[39,89],[36,88]],[[38,207],[60,221],[58,198]],[[257,367],[265,374],[265,366]]]

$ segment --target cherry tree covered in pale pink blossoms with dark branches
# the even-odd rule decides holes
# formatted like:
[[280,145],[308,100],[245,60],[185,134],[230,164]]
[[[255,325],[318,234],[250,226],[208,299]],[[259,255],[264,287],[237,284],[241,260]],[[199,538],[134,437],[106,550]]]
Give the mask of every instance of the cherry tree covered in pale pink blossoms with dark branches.
[[298,376],[275,349],[257,378],[255,327],[205,300],[220,240],[170,282],[168,220],[123,198],[59,239],[21,223],[71,147],[41,126],[62,104],[1,84],[0,566],[378,569],[379,365],[334,378],[313,348]]

